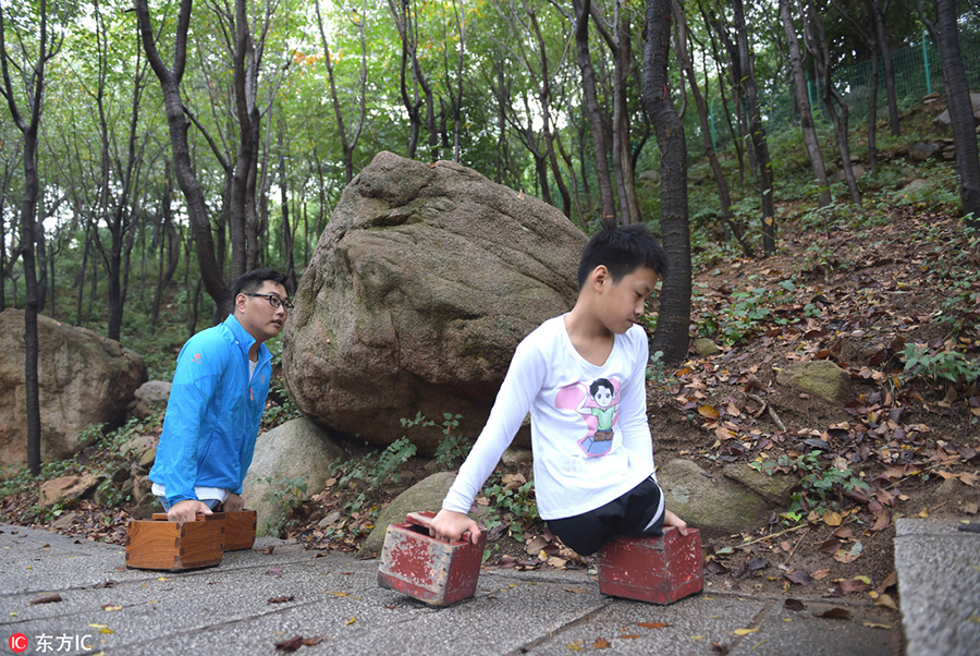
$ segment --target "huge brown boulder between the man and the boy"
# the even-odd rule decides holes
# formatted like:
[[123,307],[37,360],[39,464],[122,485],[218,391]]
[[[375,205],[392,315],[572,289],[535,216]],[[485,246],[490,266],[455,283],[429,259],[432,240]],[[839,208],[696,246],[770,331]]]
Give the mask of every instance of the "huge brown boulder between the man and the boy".
[[517,343],[571,309],[585,234],[457,163],[381,153],[344,190],[296,291],[283,373],[299,410],[431,453],[443,413],[476,436]]

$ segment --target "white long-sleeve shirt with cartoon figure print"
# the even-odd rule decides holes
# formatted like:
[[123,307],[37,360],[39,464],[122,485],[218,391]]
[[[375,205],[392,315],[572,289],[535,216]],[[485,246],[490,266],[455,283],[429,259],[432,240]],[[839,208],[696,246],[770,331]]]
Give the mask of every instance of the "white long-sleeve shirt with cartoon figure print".
[[490,417],[442,502],[444,509],[469,512],[528,411],[542,519],[595,510],[653,475],[647,333],[633,326],[616,335],[607,362],[597,366],[572,345],[565,316],[548,319],[518,344]]

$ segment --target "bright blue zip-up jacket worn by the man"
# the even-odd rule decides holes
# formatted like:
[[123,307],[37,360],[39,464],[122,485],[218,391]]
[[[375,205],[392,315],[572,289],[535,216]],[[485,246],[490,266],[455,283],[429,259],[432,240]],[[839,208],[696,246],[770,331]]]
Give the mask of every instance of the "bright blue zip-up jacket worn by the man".
[[248,379],[248,350],[254,343],[238,319],[229,315],[181,349],[149,473],[150,481],[167,489],[169,503],[197,499],[195,485],[242,494],[272,373],[272,355],[261,344],[255,375]]

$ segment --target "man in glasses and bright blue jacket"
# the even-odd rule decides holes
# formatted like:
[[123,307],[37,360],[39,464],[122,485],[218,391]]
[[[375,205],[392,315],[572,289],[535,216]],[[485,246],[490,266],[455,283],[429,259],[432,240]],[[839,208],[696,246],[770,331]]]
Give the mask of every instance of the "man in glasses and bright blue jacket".
[[293,307],[286,277],[248,271],[234,287],[234,311],[187,340],[176,370],[157,459],[154,494],[172,522],[215,510],[242,510],[242,483],[269,393],[272,360],[265,341]]

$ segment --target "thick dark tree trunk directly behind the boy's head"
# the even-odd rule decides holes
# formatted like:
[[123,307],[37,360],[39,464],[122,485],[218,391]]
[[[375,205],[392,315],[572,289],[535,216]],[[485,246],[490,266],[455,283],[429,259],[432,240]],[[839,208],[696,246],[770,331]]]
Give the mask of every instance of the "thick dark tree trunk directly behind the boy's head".
[[670,274],[662,283],[654,352],[681,362],[690,341],[690,226],[687,214],[687,143],[667,87],[671,54],[671,0],[647,0],[642,101],[660,147],[660,226]]

